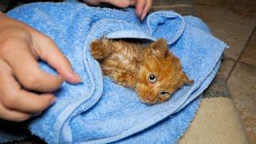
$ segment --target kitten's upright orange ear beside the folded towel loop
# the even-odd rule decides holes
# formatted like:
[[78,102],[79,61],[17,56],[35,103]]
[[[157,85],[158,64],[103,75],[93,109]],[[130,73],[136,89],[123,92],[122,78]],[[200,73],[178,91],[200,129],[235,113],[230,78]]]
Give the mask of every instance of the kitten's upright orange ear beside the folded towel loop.
[[150,45],[150,51],[152,54],[164,58],[167,52],[167,42],[165,39],[158,39],[156,42]]

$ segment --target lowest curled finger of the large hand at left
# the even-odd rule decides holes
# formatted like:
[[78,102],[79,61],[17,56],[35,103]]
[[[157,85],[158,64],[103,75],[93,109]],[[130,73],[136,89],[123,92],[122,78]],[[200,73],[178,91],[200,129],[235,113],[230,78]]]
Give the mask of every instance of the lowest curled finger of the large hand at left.
[[33,94],[22,90],[10,67],[1,59],[0,68],[0,118],[21,122],[54,103],[53,94]]

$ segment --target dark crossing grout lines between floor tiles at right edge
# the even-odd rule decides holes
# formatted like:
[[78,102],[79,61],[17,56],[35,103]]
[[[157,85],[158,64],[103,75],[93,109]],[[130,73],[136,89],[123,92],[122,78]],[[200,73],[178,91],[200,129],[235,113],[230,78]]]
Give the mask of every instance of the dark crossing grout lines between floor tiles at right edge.
[[[253,36],[254,36],[254,33],[256,33],[256,26],[254,26],[254,30],[252,30],[252,32],[250,33],[250,36],[249,36],[249,38],[247,39],[245,46],[243,46],[243,48],[242,48],[242,50],[241,50],[241,52],[240,52],[238,58],[235,60],[234,66],[232,66],[232,68],[231,68],[231,70],[230,70],[230,73],[229,73],[229,74],[227,75],[227,77],[226,77],[226,82],[228,82],[228,80],[230,79],[230,76],[231,76],[231,74],[233,73],[233,70],[234,70],[235,66],[238,65],[238,62],[240,62],[240,59],[241,59],[241,57],[242,57],[242,54],[243,54],[244,51],[246,50],[246,47],[249,45],[250,40],[251,40],[251,39],[253,38]],[[233,58],[231,58],[231,59],[233,59]],[[244,62],[242,62],[242,63],[245,64]],[[246,65],[249,65],[249,64],[246,64]],[[250,66],[250,65],[249,65],[249,66]]]

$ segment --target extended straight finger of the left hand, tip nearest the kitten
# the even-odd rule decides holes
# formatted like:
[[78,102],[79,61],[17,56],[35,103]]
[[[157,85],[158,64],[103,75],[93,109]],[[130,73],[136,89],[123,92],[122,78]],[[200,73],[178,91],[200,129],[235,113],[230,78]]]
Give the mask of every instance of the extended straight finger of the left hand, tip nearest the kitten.
[[[61,74],[67,82],[78,83],[81,82],[81,78],[78,74],[75,74],[70,62],[62,54],[55,43],[50,39],[46,38],[44,35],[40,36],[41,39],[38,41],[38,46],[36,50],[38,51],[38,56],[55,70],[58,71],[58,74]],[[42,38],[45,37],[45,38]]]

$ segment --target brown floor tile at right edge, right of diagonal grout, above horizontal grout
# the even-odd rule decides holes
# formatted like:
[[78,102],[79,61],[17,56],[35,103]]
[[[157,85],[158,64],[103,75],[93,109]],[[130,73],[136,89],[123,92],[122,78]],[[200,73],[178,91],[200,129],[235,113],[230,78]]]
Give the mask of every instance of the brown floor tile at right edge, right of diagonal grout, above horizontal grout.
[[245,50],[242,53],[240,61],[245,62],[251,66],[256,66],[256,28],[254,30],[254,34],[250,38],[248,45],[245,47]]

